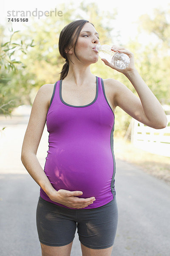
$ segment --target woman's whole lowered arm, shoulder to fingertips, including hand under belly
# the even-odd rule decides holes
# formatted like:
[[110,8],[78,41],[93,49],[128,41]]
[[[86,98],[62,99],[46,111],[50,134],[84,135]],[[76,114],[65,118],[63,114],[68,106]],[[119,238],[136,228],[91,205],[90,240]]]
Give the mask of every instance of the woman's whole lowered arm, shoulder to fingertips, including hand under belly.
[[93,201],[96,199],[94,197],[78,198],[77,196],[82,195],[82,191],[68,191],[65,189],[56,191],[45,175],[36,156],[46,122],[48,99],[51,99],[52,95],[49,86],[51,87],[50,84],[42,85],[34,99],[28,127],[23,140],[21,161],[31,177],[52,201],[71,208],[84,208],[89,204],[93,204]]

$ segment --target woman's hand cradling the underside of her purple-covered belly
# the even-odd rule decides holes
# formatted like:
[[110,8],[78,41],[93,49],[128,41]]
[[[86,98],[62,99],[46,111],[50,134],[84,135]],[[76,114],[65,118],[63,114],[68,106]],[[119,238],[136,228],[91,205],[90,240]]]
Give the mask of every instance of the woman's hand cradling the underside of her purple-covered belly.
[[96,200],[94,197],[91,198],[78,198],[77,196],[82,195],[82,191],[69,191],[65,189],[59,189],[54,191],[50,196],[50,199],[56,203],[63,204],[70,208],[85,208],[89,204],[93,204]]

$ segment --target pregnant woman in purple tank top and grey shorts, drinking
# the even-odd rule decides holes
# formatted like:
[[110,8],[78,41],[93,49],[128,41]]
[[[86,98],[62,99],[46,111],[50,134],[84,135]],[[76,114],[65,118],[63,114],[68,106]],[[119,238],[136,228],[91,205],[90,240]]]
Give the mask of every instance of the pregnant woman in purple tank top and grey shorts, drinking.
[[[70,256],[77,229],[82,256],[110,256],[116,236],[118,210],[115,191],[113,131],[116,106],[153,128],[167,125],[156,97],[134,67],[133,53],[123,73],[139,97],[115,79],[90,71],[98,61],[99,34],[88,20],[65,26],[59,52],[65,58],[60,80],[44,84],[34,99],[23,140],[21,160],[40,186],[37,231],[42,256]],[[48,155],[44,169],[37,148],[47,125]]]

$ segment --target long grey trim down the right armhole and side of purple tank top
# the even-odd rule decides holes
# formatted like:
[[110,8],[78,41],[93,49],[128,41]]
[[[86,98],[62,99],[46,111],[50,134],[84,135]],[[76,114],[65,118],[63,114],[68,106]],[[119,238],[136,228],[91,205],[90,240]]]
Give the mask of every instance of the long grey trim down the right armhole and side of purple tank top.
[[[101,78],[101,83],[102,83],[102,89],[103,89],[103,93],[104,93],[104,96],[105,96],[105,99],[109,105],[109,107],[111,108],[107,98],[106,98],[106,95],[105,95],[105,87],[104,87],[104,84],[103,84],[103,79]],[[111,111],[113,112],[112,108],[111,108]],[[113,113],[114,115],[114,113]],[[115,115],[114,115],[114,121],[115,121]],[[114,196],[116,195],[116,191],[115,191],[115,173],[116,173],[116,162],[115,162],[115,157],[114,157],[114,151],[113,151],[113,131],[114,131],[114,124],[115,122],[113,123],[113,127],[112,127],[112,130],[111,130],[111,137],[110,137],[110,143],[111,143],[111,152],[112,152],[112,156],[113,156],[113,175],[112,175],[112,181],[111,181],[111,192],[113,194],[113,198]]]

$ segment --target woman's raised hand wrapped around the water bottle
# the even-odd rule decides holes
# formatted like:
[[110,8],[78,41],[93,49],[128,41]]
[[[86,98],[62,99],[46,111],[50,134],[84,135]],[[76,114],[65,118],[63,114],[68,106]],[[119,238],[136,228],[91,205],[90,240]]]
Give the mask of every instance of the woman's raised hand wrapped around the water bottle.
[[111,50],[112,50],[113,52],[120,52],[120,53],[125,53],[125,54],[127,54],[127,55],[129,56],[129,58],[130,58],[130,64],[129,64],[125,69],[122,70],[122,69],[119,69],[119,68],[116,68],[115,66],[113,66],[113,65],[112,65],[111,63],[109,63],[105,58],[102,58],[101,60],[105,63],[105,65],[107,65],[107,66],[113,68],[114,70],[117,70],[117,71],[119,71],[119,72],[121,72],[121,73],[123,73],[123,74],[128,73],[128,72],[130,72],[130,71],[132,71],[132,70],[135,69],[135,65],[134,65],[134,55],[133,55],[132,52],[130,52],[129,50],[127,50],[127,49],[125,49],[125,48],[123,48],[123,47],[119,47],[119,46],[116,46],[116,45],[113,45],[113,46],[111,47]]

